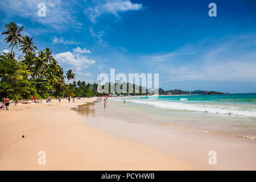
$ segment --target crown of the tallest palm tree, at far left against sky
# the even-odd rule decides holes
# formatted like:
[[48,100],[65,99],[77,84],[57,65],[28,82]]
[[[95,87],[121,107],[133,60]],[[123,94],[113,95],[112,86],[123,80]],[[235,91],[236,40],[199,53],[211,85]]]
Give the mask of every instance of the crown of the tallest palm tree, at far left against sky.
[[2,32],[2,35],[7,35],[7,38],[4,40],[6,43],[10,43],[9,47],[11,47],[11,54],[13,54],[13,47],[16,46],[16,48],[18,48],[18,44],[22,41],[21,32],[24,27],[17,27],[14,22],[10,22],[3,28],[5,28],[6,31]]

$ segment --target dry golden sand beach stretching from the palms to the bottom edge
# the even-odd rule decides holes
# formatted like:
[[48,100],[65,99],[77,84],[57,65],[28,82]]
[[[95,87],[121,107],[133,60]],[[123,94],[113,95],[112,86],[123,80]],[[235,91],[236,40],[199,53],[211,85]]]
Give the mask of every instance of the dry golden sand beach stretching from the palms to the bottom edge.
[[[86,126],[86,118],[71,107],[95,100],[18,104],[1,110],[0,170],[199,169],[147,144]],[[46,152],[46,165],[38,164],[39,151]]]

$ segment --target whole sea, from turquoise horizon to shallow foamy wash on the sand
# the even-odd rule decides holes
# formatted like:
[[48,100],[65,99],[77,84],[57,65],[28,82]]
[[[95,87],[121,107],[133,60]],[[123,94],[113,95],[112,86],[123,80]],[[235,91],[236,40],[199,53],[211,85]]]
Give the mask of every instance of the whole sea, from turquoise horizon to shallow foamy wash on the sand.
[[[256,139],[256,93],[109,98],[130,122]],[[112,113],[112,114],[111,114]],[[120,116],[119,116],[120,117]]]

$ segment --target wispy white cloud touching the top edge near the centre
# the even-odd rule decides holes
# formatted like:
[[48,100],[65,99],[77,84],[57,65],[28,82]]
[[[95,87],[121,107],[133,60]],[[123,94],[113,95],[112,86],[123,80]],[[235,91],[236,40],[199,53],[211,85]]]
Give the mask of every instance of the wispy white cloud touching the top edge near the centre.
[[90,20],[95,23],[96,18],[105,13],[118,16],[119,12],[139,10],[141,8],[141,4],[132,3],[130,0],[105,0],[104,2],[101,1],[94,7],[89,7],[84,12],[89,14]]

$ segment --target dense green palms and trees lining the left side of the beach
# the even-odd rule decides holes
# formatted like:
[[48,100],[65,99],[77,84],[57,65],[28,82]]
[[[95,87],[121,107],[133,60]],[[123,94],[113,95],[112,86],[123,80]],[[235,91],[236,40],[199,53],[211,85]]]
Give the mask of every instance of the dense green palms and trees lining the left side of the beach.
[[[65,77],[71,80],[75,77],[72,70],[64,76],[63,68],[52,56],[52,50],[45,48],[36,52],[32,38],[22,36],[24,27],[18,27],[14,22],[5,25],[2,36],[11,51],[0,55],[0,98],[8,96],[18,98],[47,98],[98,96],[97,84],[86,84],[85,81],[74,81],[65,84]],[[16,57],[13,48],[19,50],[22,56]]]

